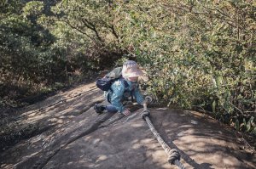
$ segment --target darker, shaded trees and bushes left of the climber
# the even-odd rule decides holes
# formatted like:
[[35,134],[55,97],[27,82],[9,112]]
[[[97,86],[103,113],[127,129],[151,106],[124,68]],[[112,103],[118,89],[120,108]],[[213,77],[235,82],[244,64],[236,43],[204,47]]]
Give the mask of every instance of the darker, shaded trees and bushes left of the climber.
[[62,5],[61,9],[57,4],[52,11],[49,4],[55,3],[0,3],[0,104],[3,98],[7,103],[9,99],[51,91],[60,82],[68,85],[74,76],[87,78],[90,71],[111,65],[110,58],[119,58],[122,53],[108,48],[107,42],[100,41],[96,34],[88,37],[88,30],[78,31],[75,23],[79,18],[71,13],[75,13],[73,3],[67,8]]

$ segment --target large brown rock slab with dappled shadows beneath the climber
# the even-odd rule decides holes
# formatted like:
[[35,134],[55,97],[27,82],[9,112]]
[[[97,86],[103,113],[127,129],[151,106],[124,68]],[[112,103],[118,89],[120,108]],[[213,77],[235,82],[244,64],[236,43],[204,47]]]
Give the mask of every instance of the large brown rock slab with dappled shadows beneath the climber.
[[[90,83],[20,110],[13,126],[40,130],[2,149],[1,168],[177,168],[142,120],[142,107],[129,117],[97,115],[95,103],[106,104]],[[236,132],[208,115],[149,110],[155,129],[179,151],[186,168],[256,168],[256,155],[244,149]]]

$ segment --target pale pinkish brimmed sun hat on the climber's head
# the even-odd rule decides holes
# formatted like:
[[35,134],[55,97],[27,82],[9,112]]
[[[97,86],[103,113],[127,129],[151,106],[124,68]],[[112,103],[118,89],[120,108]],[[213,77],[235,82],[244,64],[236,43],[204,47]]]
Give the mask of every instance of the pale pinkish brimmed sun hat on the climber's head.
[[125,78],[142,76],[143,71],[140,70],[137,63],[133,60],[127,60],[123,65],[122,76]]

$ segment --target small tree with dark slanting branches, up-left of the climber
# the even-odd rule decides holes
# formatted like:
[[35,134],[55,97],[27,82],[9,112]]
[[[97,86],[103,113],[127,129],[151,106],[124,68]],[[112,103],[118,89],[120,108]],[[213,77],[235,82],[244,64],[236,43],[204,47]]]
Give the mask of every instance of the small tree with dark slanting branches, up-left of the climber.
[[83,65],[87,67],[101,69],[113,64],[123,52],[117,46],[119,35],[111,9],[111,4],[103,0],[61,1],[52,8],[56,14],[53,33],[61,37],[57,42],[65,45],[73,57],[86,61]]

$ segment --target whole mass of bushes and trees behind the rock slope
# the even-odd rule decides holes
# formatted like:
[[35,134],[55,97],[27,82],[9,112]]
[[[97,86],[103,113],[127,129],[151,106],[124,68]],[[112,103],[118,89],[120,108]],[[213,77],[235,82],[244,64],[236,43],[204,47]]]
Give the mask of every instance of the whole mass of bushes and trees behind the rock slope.
[[1,0],[0,106],[132,58],[158,103],[255,136],[255,11],[253,0]]

